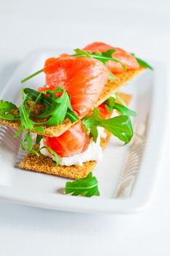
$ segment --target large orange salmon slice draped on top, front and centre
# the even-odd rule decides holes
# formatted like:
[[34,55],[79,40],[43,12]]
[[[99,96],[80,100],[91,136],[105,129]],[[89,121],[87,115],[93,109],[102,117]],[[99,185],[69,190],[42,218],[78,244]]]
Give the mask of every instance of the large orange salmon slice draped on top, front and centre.
[[82,117],[93,107],[109,80],[107,67],[88,57],[60,57],[45,61],[45,89],[54,90],[58,85],[71,97],[74,113]]

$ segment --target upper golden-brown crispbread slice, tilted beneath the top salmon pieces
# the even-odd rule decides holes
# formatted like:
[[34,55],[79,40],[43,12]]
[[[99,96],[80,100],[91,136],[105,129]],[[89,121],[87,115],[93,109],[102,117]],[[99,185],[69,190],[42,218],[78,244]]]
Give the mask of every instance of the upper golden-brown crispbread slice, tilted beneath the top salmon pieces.
[[[136,76],[139,75],[141,72],[143,72],[144,69],[145,69],[144,67],[140,67],[139,69],[129,70],[129,71],[115,75],[115,79],[113,81],[109,81],[104,86],[104,89],[101,92],[101,96],[98,98],[98,101],[95,103],[93,107],[98,107],[98,105],[101,105],[102,102],[104,102],[106,99],[112,96],[112,94],[118,91],[120,87],[128,83],[130,80],[136,78]],[[39,122],[38,120],[36,121]],[[20,121],[8,121],[0,118],[0,125],[18,129],[20,127]],[[66,130],[69,129],[71,126],[72,126],[72,122],[68,118],[66,118],[63,121],[63,123],[58,124],[58,126],[55,126],[55,127],[43,126],[45,129],[45,132],[43,134],[41,132],[35,132],[35,133],[38,133],[40,135],[45,135],[47,137],[58,137],[63,132],[66,132]]]

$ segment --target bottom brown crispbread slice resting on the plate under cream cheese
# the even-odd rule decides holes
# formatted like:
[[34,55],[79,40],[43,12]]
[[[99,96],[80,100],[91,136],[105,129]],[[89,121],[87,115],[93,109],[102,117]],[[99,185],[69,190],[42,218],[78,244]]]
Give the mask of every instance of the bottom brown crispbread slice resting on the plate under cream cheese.
[[[131,101],[131,95],[123,93],[119,93],[119,95],[128,105],[128,103]],[[105,132],[107,134],[107,138],[101,139],[101,147],[103,148],[103,150],[107,146],[107,143],[109,142],[109,138],[111,136],[110,132],[108,132],[107,130],[105,130]],[[19,167],[25,170],[34,170],[39,173],[53,174],[66,178],[84,178],[88,175],[88,173],[93,171],[95,165],[96,161],[89,161],[83,163],[82,166],[56,166],[55,162],[50,157],[45,157],[42,154],[40,154],[39,157],[37,157],[35,154],[27,154],[23,161],[20,162]]]

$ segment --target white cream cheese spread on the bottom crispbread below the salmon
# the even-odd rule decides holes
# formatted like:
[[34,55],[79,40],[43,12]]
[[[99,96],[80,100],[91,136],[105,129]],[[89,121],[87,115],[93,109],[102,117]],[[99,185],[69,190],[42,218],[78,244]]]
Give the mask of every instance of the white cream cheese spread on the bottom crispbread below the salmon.
[[[72,157],[60,157],[60,165],[80,165],[82,166],[83,162],[88,162],[88,161],[101,161],[103,157],[103,151],[100,146],[101,143],[101,138],[107,138],[106,133],[104,132],[104,128],[98,127],[98,138],[96,143],[92,140],[86,149],[86,151],[80,153],[80,154],[75,154]],[[40,141],[40,148],[45,146],[43,139]],[[47,151],[46,148],[42,148],[41,153],[44,156],[50,157],[55,161],[55,157],[53,157],[52,154],[50,154],[49,151]]]

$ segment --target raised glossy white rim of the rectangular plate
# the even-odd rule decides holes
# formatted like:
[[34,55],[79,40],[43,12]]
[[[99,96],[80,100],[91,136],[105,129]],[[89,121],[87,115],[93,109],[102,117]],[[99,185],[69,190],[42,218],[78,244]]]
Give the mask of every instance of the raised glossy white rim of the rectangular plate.
[[[53,48],[49,48],[48,50],[51,51],[53,50]],[[4,90],[1,91],[1,97],[3,97],[3,95],[9,89],[12,80],[14,80],[18,76],[18,74],[20,73],[20,69],[23,69],[28,61],[38,58],[38,56],[45,51],[47,52],[47,48],[35,50],[29,55],[29,57],[27,56],[26,59],[21,62],[21,64],[15,70],[14,74],[9,79],[7,86],[5,86]],[[86,213],[131,214],[147,208],[147,206],[149,206],[152,201],[152,197],[155,195],[156,185],[158,183],[158,178],[161,173],[163,151],[166,138],[168,138],[168,110],[170,105],[168,100],[169,86],[167,80],[168,72],[166,72],[166,66],[161,64],[159,61],[152,62],[155,63],[156,68],[155,71],[152,73],[154,79],[154,89],[152,90],[152,111],[150,115],[151,121],[147,134],[146,148],[144,150],[145,157],[143,157],[142,159],[142,166],[140,167],[138,177],[136,177],[133,195],[131,195],[131,197],[125,199],[107,199],[103,197],[73,197],[70,195],[55,195],[52,193],[44,192],[28,192],[23,189],[14,189],[12,187],[0,185],[0,199],[28,206],[36,206],[39,208],[50,208],[61,211],[76,211]],[[162,76],[161,74],[164,75]],[[163,84],[163,89],[161,88],[161,86],[159,86],[160,84]],[[159,105],[158,102],[160,102]],[[156,116],[159,116],[159,125],[157,120],[158,118],[156,118]],[[161,127],[160,124],[162,124]],[[162,131],[161,137],[157,138],[158,140],[155,140],[155,127],[159,127],[159,130]],[[150,148],[152,148],[151,157],[156,157],[157,161],[153,161],[153,159],[147,159],[146,156],[150,155]],[[151,165],[152,169],[155,170],[155,174],[154,176],[152,176],[152,171],[147,173],[147,183],[145,184],[143,191],[143,180],[146,176],[144,170],[150,170]]]

